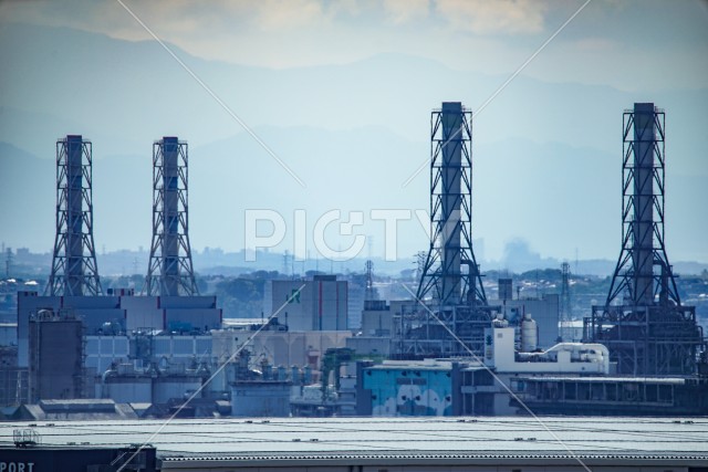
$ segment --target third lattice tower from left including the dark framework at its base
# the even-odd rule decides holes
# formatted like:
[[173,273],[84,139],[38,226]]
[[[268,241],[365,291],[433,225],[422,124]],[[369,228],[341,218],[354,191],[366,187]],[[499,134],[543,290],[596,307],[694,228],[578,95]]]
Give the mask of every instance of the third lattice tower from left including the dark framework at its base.
[[430,115],[431,238],[416,294],[427,306],[404,307],[395,317],[400,357],[482,353],[491,318],[472,251],[471,122],[459,102]]

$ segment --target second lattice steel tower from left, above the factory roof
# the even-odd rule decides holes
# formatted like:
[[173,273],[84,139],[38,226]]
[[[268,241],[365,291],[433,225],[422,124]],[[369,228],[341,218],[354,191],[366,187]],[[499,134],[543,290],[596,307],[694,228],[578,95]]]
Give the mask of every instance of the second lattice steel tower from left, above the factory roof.
[[153,243],[145,280],[148,295],[197,295],[187,203],[187,143],[153,144]]

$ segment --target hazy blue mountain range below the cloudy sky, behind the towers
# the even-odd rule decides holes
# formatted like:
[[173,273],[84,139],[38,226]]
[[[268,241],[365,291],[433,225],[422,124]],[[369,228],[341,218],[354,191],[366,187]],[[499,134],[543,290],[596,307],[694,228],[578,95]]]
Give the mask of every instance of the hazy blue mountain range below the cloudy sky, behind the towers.
[[[303,188],[157,43],[20,24],[0,28],[0,43],[12,45],[0,48],[0,239],[33,251],[53,244],[55,140],[66,134],[93,140],[98,248],[149,247],[152,144],[177,135],[190,145],[192,247],[238,251],[243,211],[274,209],[289,222],[277,250],[292,251],[295,209],[310,229],[331,209],[427,210],[428,168],[403,183],[429,155],[430,109],[477,109],[506,80],[406,55],[268,70],[174,48]],[[486,260],[501,262],[516,238],[543,258],[616,258],[622,111],[635,101],[667,111],[669,258],[708,261],[708,91],[635,94],[523,75],[475,119],[473,237]],[[367,219],[360,231],[378,256],[383,228]],[[425,231],[400,222],[397,244],[410,258],[427,248]]]

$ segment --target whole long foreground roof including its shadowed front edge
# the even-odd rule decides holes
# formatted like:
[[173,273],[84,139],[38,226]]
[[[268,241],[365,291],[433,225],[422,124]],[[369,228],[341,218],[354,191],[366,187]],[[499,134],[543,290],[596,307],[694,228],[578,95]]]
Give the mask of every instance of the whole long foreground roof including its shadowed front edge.
[[[12,444],[12,429],[23,427],[27,423],[7,424],[0,441]],[[454,465],[469,471],[581,471],[583,465],[664,471],[708,465],[708,421],[697,418],[593,418],[592,423],[518,417],[55,421],[41,424],[41,431],[44,447],[67,441],[140,444],[149,439],[162,470],[183,472],[449,471]]]

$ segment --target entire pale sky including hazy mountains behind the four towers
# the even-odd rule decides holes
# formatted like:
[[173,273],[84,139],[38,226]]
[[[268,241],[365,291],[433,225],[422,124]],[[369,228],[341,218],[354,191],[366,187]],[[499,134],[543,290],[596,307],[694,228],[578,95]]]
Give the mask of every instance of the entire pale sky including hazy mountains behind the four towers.
[[461,101],[476,113],[481,258],[501,260],[520,239],[544,258],[614,260],[622,113],[654,102],[667,122],[668,254],[708,261],[705,2],[596,0],[560,32],[583,2],[124,6],[0,3],[8,247],[51,250],[55,140],[82,134],[93,141],[97,247],[147,248],[152,144],[174,135],[189,143],[192,248],[243,249],[246,211],[268,209],[287,225],[273,250],[305,256],[293,244],[304,210],[304,249],[316,255],[315,222],[341,210],[342,221],[362,212],[363,225],[340,235],[333,224],[329,245],[364,234],[362,256],[382,258],[385,225],[372,210],[403,210],[412,218],[396,248],[409,258],[428,245],[413,216],[429,209],[429,114]]

